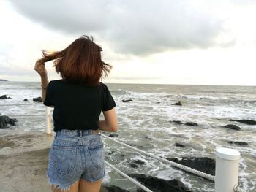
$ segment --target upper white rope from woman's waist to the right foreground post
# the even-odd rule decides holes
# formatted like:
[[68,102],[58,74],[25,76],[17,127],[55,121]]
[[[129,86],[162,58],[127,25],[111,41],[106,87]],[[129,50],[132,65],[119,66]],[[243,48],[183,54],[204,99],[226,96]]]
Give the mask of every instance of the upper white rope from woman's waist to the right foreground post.
[[186,171],[186,172],[191,172],[192,174],[197,174],[198,176],[203,177],[203,178],[206,178],[206,179],[208,179],[208,180],[212,180],[212,181],[215,180],[215,177],[212,176],[211,174],[206,174],[206,173],[204,173],[204,172],[200,172],[200,171],[197,171],[197,170],[195,170],[195,169],[192,169],[192,168],[190,168],[190,167],[188,167],[188,166],[184,166],[184,165],[181,165],[181,164],[177,164],[177,163],[175,163],[175,162],[173,162],[173,161],[168,161],[168,160],[165,159],[165,158],[159,158],[159,157],[157,157],[156,155],[151,155],[151,154],[149,154],[149,153],[146,153],[146,152],[143,151],[143,150],[139,150],[138,148],[135,148],[135,147],[132,147],[132,146],[130,146],[130,145],[127,145],[127,144],[125,144],[124,142],[119,142],[119,141],[116,140],[116,139],[110,138],[110,137],[106,136],[105,134],[102,134],[102,136],[105,137],[105,138],[108,138],[108,139],[112,140],[113,142],[117,142],[117,143],[120,144],[120,145],[123,145],[123,146],[125,146],[125,147],[129,147],[129,148],[132,149],[132,150],[135,150],[135,151],[137,151],[137,152],[139,152],[139,153],[142,153],[143,155],[146,155],[146,156],[151,157],[151,158],[155,158],[155,159],[157,159],[158,161],[162,161],[162,162],[164,162],[164,163],[166,163],[166,164],[170,164],[171,166],[176,166],[176,167],[178,167],[179,169],[182,169],[182,170],[184,170],[184,171]]

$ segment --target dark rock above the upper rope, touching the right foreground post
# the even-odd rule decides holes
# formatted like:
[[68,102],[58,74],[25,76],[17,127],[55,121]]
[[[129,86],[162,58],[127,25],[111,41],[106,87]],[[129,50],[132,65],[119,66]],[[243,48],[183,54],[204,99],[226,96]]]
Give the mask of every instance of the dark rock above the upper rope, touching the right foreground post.
[[183,157],[181,160],[178,158],[167,158],[167,160],[182,164],[184,166],[189,166],[207,174],[215,175],[215,160],[212,158]]

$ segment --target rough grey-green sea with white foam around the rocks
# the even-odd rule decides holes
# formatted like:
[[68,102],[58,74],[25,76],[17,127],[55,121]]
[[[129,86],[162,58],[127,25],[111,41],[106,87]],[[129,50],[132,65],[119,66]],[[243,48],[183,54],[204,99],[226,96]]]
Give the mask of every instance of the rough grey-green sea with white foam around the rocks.
[[[217,147],[236,149],[241,153],[239,186],[244,191],[256,191],[256,126],[229,121],[256,120],[255,86],[107,85],[117,105],[118,137],[112,138],[162,158],[215,159]],[[32,100],[41,95],[39,82],[0,82],[1,95],[12,98],[0,99],[0,113],[18,120],[17,126],[10,126],[13,131],[45,131],[45,107]],[[178,101],[182,106],[173,105]],[[197,126],[186,126],[186,122]],[[227,124],[239,126],[241,130],[222,127]],[[214,191],[214,183],[208,180],[102,139],[105,159],[126,174],[176,179],[191,191]],[[230,144],[230,141],[248,145]],[[177,143],[185,147],[177,147]],[[142,164],[131,166],[136,161]],[[133,183],[108,166],[104,183],[136,191]]]

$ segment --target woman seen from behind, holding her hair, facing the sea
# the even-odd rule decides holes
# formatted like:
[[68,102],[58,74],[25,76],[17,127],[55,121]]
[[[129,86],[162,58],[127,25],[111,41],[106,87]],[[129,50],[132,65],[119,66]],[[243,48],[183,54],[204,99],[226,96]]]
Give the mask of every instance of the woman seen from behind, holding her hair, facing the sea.
[[[42,82],[42,100],[54,107],[56,136],[47,176],[53,191],[99,191],[105,175],[99,130],[117,131],[116,103],[102,82],[111,66],[101,60],[101,47],[82,36],[59,52],[43,51],[34,69]],[[45,62],[53,61],[61,80],[48,83]],[[105,120],[99,120],[103,112]]]

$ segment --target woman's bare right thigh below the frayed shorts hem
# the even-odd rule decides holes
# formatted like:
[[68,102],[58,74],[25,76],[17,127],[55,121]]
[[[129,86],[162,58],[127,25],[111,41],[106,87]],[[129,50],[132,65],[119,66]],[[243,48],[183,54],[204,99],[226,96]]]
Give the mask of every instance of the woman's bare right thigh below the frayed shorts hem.
[[99,192],[101,185],[102,180],[97,180],[95,182],[80,180],[78,192]]

